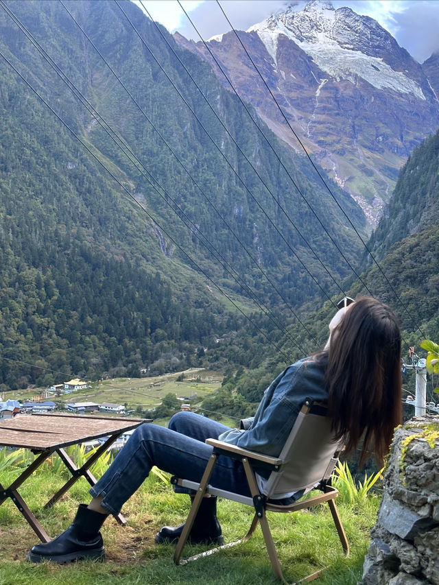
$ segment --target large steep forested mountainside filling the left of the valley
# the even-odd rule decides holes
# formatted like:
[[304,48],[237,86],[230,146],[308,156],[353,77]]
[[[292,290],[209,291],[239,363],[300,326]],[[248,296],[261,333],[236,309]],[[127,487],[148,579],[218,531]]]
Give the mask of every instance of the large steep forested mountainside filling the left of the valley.
[[185,366],[244,322],[217,287],[289,322],[350,274],[361,209],[135,5],[8,1],[0,29],[0,387]]

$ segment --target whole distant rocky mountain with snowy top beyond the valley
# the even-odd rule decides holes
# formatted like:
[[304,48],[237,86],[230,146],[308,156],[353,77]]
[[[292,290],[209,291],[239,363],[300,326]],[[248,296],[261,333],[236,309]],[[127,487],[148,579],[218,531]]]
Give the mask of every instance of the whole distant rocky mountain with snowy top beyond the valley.
[[[421,66],[373,19],[317,0],[303,10],[289,5],[239,38],[302,143],[375,225],[405,158],[439,126],[439,58]],[[234,32],[208,48],[176,40],[209,60],[230,89],[223,69],[268,126],[301,151]]]

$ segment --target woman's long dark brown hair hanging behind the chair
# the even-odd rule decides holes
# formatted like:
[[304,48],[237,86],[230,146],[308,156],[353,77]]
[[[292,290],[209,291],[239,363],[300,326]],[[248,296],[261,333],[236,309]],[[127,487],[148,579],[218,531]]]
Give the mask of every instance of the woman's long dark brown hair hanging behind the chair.
[[362,297],[331,333],[325,382],[329,414],[346,452],[363,438],[360,465],[370,453],[382,463],[394,429],[401,424],[401,333],[387,305]]

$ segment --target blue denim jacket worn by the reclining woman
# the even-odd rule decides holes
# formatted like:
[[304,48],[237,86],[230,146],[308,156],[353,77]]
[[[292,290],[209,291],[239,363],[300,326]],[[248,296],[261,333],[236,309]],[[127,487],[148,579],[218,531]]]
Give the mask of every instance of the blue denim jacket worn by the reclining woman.
[[[277,457],[305,399],[328,401],[324,370],[324,364],[316,363],[312,358],[301,359],[289,366],[265,390],[250,428],[230,429],[219,435],[219,440]],[[262,470],[261,475],[265,475]]]

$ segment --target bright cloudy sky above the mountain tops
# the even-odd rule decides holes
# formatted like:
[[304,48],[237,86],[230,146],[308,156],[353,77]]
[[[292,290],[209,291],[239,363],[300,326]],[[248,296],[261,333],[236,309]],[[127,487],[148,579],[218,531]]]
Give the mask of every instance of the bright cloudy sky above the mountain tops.
[[[178,30],[186,38],[200,40],[177,0],[142,0],[152,18],[169,32]],[[180,0],[206,40],[228,32],[228,25],[215,0]],[[238,30],[265,20],[287,5],[285,0],[219,0],[230,23]],[[305,1],[295,1],[305,5]],[[420,63],[439,50],[439,0],[333,0],[334,8],[348,6],[357,14],[371,16],[401,47]]]

